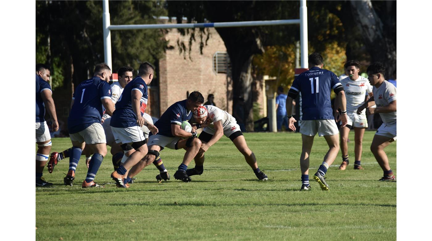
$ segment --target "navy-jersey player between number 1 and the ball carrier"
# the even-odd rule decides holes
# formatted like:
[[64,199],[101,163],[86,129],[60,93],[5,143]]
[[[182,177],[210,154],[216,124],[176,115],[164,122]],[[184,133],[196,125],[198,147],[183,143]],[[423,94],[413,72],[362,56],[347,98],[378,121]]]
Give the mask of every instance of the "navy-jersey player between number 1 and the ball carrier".
[[124,183],[124,175],[147,154],[146,139],[141,126],[147,126],[153,134],[158,133],[158,128],[142,116],[147,106],[147,85],[152,82],[154,71],[155,67],[149,62],[140,64],[138,77],[124,87],[115,104],[110,123],[111,131],[115,142],[121,143],[121,148],[128,156],[127,160],[111,173],[111,178],[118,187],[129,187],[129,184]]

